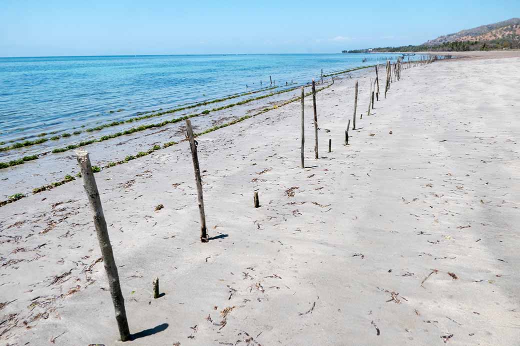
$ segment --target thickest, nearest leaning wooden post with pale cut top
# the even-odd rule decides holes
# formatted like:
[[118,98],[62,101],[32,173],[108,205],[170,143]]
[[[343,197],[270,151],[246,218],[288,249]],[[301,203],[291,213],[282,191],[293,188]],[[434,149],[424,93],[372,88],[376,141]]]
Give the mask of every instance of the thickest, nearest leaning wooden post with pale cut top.
[[81,169],[83,188],[85,188],[90,210],[92,210],[94,216],[94,227],[96,228],[98,243],[101,248],[101,257],[108,277],[108,285],[110,295],[112,296],[112,303],[114,304],[115,320],[118,323],[119,335],[121,336],[121,341],[127,341],[130,339],[130,330],[128,329],[128,321],[126,320],[125,300],[121,292],[118,267],[115,265],[112,245],[110,244],[110,237],[107,230],[107,222],[103,214],[96,179],[94,178],[92,166],[90,166],[88,152],[78,150],[76,151],[76,157]]

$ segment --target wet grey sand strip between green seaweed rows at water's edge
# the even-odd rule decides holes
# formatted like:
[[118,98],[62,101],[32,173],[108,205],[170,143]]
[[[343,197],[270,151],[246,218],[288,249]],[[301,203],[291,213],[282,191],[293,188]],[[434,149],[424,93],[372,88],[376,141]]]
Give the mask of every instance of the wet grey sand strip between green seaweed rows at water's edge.
[[[344,71],[341,71],[341,74],[353,74],[354,76],[363,74],[360,71],[364,71],[366,69],[373,68],[372,65],[369,66],[361,66],[353,69],[347,69]],[[337,72],[336,72],[337,73]],[[352,77],[352,75],[350,76]],[[334,78],[337,78],[336,75],[334,75]],[[325,85],[331,85],[331,78],[326,78]],[[319,85],[319,84],[318,84]],[[308,88],[309,84],[303,85],[305,88]],[[256,116],[258,114],[261,114],[267,110],[273,109],[275,107],[279,107],[279,105],[284,105],[285,102],[288,100],[292,100],[291,102],[294,102],[299,98],[299,87],[295,88],[289,88],[284,89],[280,91],[275,91],[271,94],[265,94],[262,96],[259,96],[258,98],[253,99],[246,99],[245,105],[240,104],[231,104],[231,107],[229,104],[225,104],[222,107],[217,108],[216,110],[210,111],[208,114],[201,113],[195,113],[195,114],[188,114],[188,112],[185,112],[184,114],[178,114],[177,119],[180,119],[180,121],[174,121],[170,123],[163,123],[161,126],[156,127],[150,127],[150,128],[142,128],[139,131],[136,131],[135,134],[133,132],[129,134],[123,134],[124,136],[121,136],[121,138],[115,137],[111,138],[108,136],[106,140],[103,140],[101,143],[100,141],[92,141],[88,140],[86,143],[89,145],[83,146],[83,145],[74,145],[74,148],[72,145],[70,145],[67,150],[63,150],[61,153],[60,151],[57,152],[38,152],[37,146],[35,147],[27,147],[23,148],[27,151],[23,152],[23,155],[38,155],[40,159],[28,159],[24,162],[23,165],[13,165],[10,167],[6,167],[3,169],[0,169],[0,178],[3,178],[2,181],[0,181],[0,187],[2,187],[2,191],[4,192],[3,198],[0,197],[0,199],[3,199],[2,205],[5,205],[7,203],[12,203],[18,201],[18,199],[21,199],[25,196],[30,195],[30,193],[40,193],[45,190],[53,189],[54,187],[57,187],[59,185],[62,185],[63,183],[71,181],[71,179],[64,179],[64,176],[71,176],[75,177],[76,170],[73,168],[76,168],[75,159],[73,156],[70,155],[70,152],[76,148],[85,148],[89,149],[92,147],[92,145],[96,145],[99,143],[100,145],[103,145],[102,150],[98,151],[101,153],[100,155],[92,156],[93,159],[93,165],[99,166],[100,168],[109,168],[111,166],[114,166],[115,164],[121,164],[126,163],[130,161],[130,159],[135,158],[138,154],[140,156],[145,156],[146,154],[150,154],[154,150],[153,148],[157,148],[158,146],[161,148],[169,147],[172,144],[176,144],[181,140],[184,140],[183,136],[179,136],[183,134],[184,132],[181,130],[184,126],[184,122],[182,121],[186,117],[190,117],[192,119],[198,118],[199,116],[202,116],[201,119],[199,119],[199,122],[202,123],[197,124],[194,123],[195,129],[203,129],[203,131],[198,132],[204,132],[206,129],[215,128],[218,126],[223,126],[226,124],[234,122],[236,119],[239,118],[248,118],[250,116]],[[268,90],[270,91],[270,90]],[[286,97],[282,97],[286,96]],[[265,101],[264,101],[265,99]],[[249,107],[251,105],[251,107]],[[203,109],[206,109],[205,105],[201,105],[200,107],[195,108],[196,110],[202,111]],[[170,113],[165,111],[165,114],[163,116],[168,116]],[[244,114],[244,115],[242,115]],[[161,117],[163,117],[161,116]],[[213,117],[217,117],[216,122],[212,120]],[[153,119],[153,118],[152,118]],[[161,118],[159,118],[161,120]],[[146,123],[144,123],[146,126]],[[176,125],[178,124],[178,125]],[[171,128],[171,127],[176,128]],[[226,125],[227,126],[227,125]],[[141,125],[142,127],[142,125]],[[161,129],[164,127],[164,129]],[[172,132],[164,132],[167,128],[171,128]],[[143,137],[149,137],[152,139],[151,141],[147,139],[143,139],[142,141],[139,140],[139,138]],[[118,143],[114,143],[114,141],[119,141]],[[131,141],[132,145],[126,145],[125,143],[128,143],[128,141]],[[135,142],[135,144],[134,144]],[[107,144],[108,143],[108,144]],[[80,143],[81,144],[81,143]],[[123,146],[121,145],[123,144]],[[114,148],[115,150],[113,153],[107,152],[105,146],[108,146],[109,148]],[[63,148],[63,147],[62,147]],[[126,148],[126,149],[125,149]],[[157,150],[157,149],[155,149]],[[16,154],[18,155],[18,154]],[[9,157],[9,156],[7,156]],[[17,159],[15,154],[11,153],[11,156],[9,159]],[[31,157],[32,156],[28,156]],[[129,158],[130,159],[125,159]],[[139,156],[137,156],[139,157]],[[43,161],[42,161],[43,160]],[[123,162],[126,161],[126,162]],[[59,163],[58,163],[59,162]],[[63,165],[64,163],[67,163],[66,165]],[[54,167],[60,166],[59,172],[54,172]],[[37,167],[37,168],[34,168]],[[67,167],[70,167],[67,169]],[[36,174],[36,176],[34,176]],[[16,175],[16,181],[9,182],[9,178],[13,178],[14,175]],[[7,179],[6,179],[7,178]],[[66,181],[68,180],[68,181]],[[55,186],[53,186],[55,185]],[[23,197],[21,197],[23,195]],[[11,196],[14,196],[14,198],[10,198]],[[9,202],[11,200],[11,202]]]

